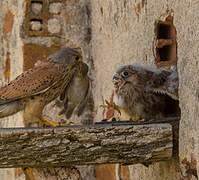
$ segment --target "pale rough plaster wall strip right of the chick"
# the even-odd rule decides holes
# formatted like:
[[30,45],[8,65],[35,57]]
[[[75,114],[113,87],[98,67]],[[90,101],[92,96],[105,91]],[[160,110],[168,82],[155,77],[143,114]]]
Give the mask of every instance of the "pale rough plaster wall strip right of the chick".
[[[183,170],[199,176],[199,1],[176,4],[180,76],[180,159]],[[188,168],[185,168],[185,166]],[[186,175],[186,174],[185,174]],[[188,174],[194,179],[193,173]]]

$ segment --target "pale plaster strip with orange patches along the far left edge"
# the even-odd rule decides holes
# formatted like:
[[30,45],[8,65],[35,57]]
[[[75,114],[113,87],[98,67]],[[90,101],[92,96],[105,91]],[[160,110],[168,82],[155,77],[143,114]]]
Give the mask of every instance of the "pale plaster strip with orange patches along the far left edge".
[[[0,79],[2,84],[8,83],[23,70],[22,41],[20,39],[23,22],[24,1],[0,1]],[[23,126],[22,114],[1,119],[1,127]],[[24,179],[21,169],[1,169],[1,180]]]

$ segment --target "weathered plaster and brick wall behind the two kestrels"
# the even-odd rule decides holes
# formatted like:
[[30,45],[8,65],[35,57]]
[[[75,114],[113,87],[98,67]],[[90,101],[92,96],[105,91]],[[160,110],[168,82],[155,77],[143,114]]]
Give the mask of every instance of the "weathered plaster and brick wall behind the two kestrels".
[[[196,179],[199,168],[199,1],[197,0],[3,0],[0,2],[0,77],[9,82],[61,47],[81,47],[93,82],[95,121],[107,116],[100,105],[113,99],[115,68],[138,61],[155,65],[155,24],[173,18],[177,32],[177,65],[180,78],[179,159],[150,165],[122,166],[123,179]],[[44,8],[42,10],[42,8]],[[37,15],[37,13],[39,15]],[[35,15],[36,14],[36,15]],[[49,111],[50,109],[50,111]],[[59,110],[52,103],[45,114],[53,119]],[[51,113],[50,113],[51,112]],[[80,119],[74,117],[77,122]],[[81,117],[82,118],[82,117]],[[22,125],[21,113],[0,121],[2,127]],[[133,152],[132,152],[133,153]],[[82,168],[84,179],[118,177],[117,165]],[[23,178],[22,172],[2,170],[2,179]],[[90,175],[90,176],[89,176]],[[102,176],[103,175],[103,176]],[[8,178],[9,177],[9,178]]]

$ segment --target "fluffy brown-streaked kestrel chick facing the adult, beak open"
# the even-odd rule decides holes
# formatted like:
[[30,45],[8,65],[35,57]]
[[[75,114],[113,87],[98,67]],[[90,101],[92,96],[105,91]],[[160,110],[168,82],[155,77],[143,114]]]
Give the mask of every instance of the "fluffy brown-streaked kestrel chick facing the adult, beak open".
[[116,105],[133,120],[179,115],[178,76],[174,71],[129,64],[113,76]]

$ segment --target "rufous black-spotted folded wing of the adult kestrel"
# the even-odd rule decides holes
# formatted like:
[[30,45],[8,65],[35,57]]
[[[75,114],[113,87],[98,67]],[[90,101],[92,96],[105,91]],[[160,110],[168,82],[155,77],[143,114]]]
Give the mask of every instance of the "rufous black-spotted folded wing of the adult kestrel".
[[42,62],[1,87],[0,104],[47,91],[57,81],[63,79],[62,72],[59,64]]

